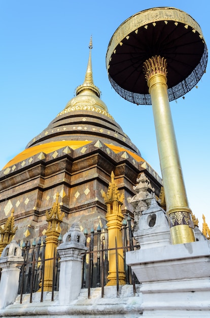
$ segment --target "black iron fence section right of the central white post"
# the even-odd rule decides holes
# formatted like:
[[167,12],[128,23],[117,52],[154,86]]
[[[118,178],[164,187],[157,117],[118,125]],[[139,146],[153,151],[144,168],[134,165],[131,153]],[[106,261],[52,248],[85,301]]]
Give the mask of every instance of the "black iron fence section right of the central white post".
[[83,258],[83,275],[82,288],[88,289],[88,297],[90,297],[90,289],[101,287],[101,297],[104,295],[104,286],[108,283],[109,274],[109,251],[115,251],[116,262],[116,291],[119,296],[119,268],[118,268],[118,252],[123,251],[124,272],[126,284],[133,285],[133,293],[135,294],[135,284],[139,283],[130,266],[126,264],[126,252],[138,249],[139,245],[133,244],[130,218],[124,220],[122,227],[123,246],[118,247],[115,242],[114,248],[108,245],[108,230],[105,228],[101,231],[98,226],[97,231],[91,230],[90,235],[86,235],[86,245],[89,248]]

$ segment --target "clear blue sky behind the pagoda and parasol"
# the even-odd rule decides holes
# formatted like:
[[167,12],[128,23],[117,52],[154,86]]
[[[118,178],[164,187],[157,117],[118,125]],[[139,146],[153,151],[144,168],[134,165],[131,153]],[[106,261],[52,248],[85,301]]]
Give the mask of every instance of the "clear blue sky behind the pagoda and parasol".
[[[0,168],[41,133],[74,97],[84,81],[92,35],[94,84],[101,99],[123,131],[159,175],[160,165],[151,106],[123,100],[112,88],[106,70],[106,53],[116,28],[131,15],[153,7],[176,7],[201,26],[210,46],[206,0],[0,1]],[[189,205],[210,227],[209,180],[209,66],[186,94],[171,102]]]

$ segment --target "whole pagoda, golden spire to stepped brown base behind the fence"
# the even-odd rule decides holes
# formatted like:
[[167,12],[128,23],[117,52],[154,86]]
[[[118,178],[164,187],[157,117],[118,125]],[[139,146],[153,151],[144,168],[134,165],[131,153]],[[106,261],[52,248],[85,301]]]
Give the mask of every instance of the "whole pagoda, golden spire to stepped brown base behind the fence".
[[125,200],[122,212],[133,215],[129,197],[141,171],[152,178],[159,197],[161,179],[110,115],[94,85],[92,40],[85,80],[76,96],[34,137],[26,149],[0,171],[0,225],[14,208],[16,239],[45,235],[46,211],[59,194],[64,212],[62,233],[79,222],[90,230],[106,223],[107,193],[112,171]]

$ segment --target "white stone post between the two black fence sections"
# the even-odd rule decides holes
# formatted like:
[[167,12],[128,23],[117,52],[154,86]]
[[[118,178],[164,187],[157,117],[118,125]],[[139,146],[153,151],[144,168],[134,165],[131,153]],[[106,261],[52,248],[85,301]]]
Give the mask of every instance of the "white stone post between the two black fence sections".
[[59,303],[68,305],[81,290],[82,257],[88,249],[85,235],[78,224],[73,224],[57,247],[60,255]]

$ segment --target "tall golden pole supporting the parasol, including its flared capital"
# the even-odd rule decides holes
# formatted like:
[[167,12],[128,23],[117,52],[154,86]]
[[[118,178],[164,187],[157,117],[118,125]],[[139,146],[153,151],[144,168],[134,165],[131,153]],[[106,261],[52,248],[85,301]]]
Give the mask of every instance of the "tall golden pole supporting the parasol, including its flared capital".
[[171,241],[179,244],[194,242],[195,234],[170,112],[166,66],[166,59],[156,55],[145,61],[143,69],[152,100]]

